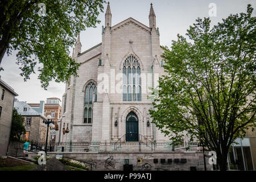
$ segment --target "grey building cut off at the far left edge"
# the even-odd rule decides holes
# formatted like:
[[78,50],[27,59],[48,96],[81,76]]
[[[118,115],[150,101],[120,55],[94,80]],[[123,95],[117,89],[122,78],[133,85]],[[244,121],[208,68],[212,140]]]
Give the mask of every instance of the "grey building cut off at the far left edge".
[[0,77],[0,156],[6,155],[10,140],[11,121],[13,118],[14,89]]

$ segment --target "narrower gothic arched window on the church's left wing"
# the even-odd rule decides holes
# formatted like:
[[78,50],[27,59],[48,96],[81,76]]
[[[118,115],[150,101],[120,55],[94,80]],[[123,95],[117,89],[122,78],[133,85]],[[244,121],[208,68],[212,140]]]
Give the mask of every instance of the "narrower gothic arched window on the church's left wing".
[[85,102],[84,102],[84,123],[92,123],[93,115],[93,94],[94,102],[97,101],[97,86],[90,82],[85,88]]

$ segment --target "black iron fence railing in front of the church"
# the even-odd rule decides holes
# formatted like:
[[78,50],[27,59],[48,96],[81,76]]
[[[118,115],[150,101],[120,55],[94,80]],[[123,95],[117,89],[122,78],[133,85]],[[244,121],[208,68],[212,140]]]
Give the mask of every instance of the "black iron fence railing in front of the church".
[[[31,143],[31,151],[45,150],[46,143]],[[48,152],[100,152],[100,151],[197,151],[197,143],[172,145],[170,142],[49,142]]]

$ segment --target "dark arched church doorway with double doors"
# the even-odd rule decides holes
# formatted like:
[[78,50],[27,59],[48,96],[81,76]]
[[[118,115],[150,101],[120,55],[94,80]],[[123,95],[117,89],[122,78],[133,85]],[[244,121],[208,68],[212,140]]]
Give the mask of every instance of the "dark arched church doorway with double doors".
[[130,112],[126,116],[126,142],[139,141],[139,125],[138,117],[134,112]]

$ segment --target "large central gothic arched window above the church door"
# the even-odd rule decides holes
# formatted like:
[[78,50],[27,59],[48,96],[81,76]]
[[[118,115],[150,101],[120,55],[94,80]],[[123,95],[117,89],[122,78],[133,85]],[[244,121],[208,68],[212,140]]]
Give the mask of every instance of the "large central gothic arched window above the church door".
[[141,101],[141,68],[133,55],[123,62],[123,101]]

